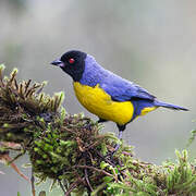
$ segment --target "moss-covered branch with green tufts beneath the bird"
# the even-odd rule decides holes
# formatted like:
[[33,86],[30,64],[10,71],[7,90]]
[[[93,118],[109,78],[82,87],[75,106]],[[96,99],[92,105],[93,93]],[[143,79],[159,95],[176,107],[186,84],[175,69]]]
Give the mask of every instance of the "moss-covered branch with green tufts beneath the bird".
[[[10,77],[3,77],[3,69],[1,65],[1,157],[10,150],[27,151],[39,181],[52,179],[64,195],[196,194],[196,171],[186,150],[175,152],[175,163],[163,166],[134,158],[132,147],[124,144],[111,156],[119,139],[111,133],[99,134],[101,125],[82,114],[68,114],[61,107],[63,93],[47,96],[41,93],[46,83],[19,83],[16,69]],[[20,145],[16,148],[8,142]]]

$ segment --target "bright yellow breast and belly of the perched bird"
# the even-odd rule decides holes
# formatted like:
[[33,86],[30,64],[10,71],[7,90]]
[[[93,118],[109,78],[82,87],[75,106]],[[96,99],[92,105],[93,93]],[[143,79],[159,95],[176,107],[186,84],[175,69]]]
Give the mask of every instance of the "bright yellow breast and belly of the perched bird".
[[106,94],[99,85],[95,87],[74,84],[75,95],[78,101],[91,113],[100,119],[113,121],[120,125],[131,121],[134,107],[131,101],[113,101],[110,95]]

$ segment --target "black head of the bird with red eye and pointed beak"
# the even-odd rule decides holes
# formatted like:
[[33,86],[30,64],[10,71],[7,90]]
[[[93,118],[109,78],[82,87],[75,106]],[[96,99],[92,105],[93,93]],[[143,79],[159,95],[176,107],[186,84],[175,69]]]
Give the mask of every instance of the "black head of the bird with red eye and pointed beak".
[[85,69],[86,53],[77,50],[65,52],[60,59],[54,60],[51,64],[60,66],[64,72],[77,82],[82,78]]

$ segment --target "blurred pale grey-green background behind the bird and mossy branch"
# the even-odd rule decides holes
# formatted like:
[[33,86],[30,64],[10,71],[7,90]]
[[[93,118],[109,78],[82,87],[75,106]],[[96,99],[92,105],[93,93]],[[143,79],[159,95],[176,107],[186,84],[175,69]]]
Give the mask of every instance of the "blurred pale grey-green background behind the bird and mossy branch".
[[[195,11],[195,0],[1,0],[0,63],[7,65],[5,74],[19,68],[20,79],[48,81],[47,94],[64,90],[63,105],[72,114],[97,119],[76,100],[72,79],[49,64],[70,49],[86,51],[159,99],[191,109],[159,109],[123,133],[136,157],[160,164],[175,159],[174,149],[185,148],[196,127]],[[118,134],[114,123],[106,123],[105,131]],[[196,143],[188,150],[194,158]],[[16,163],[28,161],[25,156]],[[30,169],[21,170],[30,176]],[[30,185],[14,171],[3,164],[0,171],[5,173],[0,174],[0,195],[30,195]]]

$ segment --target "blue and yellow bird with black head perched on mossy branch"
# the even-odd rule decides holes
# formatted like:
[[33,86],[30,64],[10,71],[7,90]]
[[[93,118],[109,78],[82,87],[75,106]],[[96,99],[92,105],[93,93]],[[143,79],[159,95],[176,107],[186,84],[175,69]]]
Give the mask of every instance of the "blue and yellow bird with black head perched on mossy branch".
[[[163,102],[139,85],[102,68],[96,59],[79,50],[70,50],[51,62],[73,78],[75,96],[81,105],[96,114],[98,123],[112,121],[119,128],[119,139],[126,125],[138,117],[160,107],[188,109]],[[115,147],[117,151],[119,145]]]

